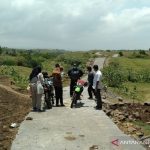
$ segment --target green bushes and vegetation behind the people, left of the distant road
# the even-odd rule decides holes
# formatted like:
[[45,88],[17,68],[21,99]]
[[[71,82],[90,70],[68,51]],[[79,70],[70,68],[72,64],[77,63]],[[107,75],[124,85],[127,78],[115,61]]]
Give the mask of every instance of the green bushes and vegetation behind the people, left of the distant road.
[[[89,58],[93,58],[90,52],[66,52],[59,50],[17,50],[3,48],[0,56],[1,74],[9,75],[17,85],[26,85],[31,68],[40,65],[43,71],[51,74],[56,63],[64,67],[65,73],[72,63],[77,63],[81,69],[86,68]],[[13,67],[10,67],[13,66]],[[21,71],[20,71],[21,70]]]

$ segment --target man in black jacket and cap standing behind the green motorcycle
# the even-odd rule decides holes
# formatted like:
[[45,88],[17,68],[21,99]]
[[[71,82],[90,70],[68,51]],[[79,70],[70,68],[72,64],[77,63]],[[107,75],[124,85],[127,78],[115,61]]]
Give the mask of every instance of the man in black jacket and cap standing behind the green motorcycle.
[[83,72],[76,64],[73,64],[73,67],[68,71],[68,76],[70,77],[70,96],[72,97],[74,87],[77,85],[78,79],[83,76]]

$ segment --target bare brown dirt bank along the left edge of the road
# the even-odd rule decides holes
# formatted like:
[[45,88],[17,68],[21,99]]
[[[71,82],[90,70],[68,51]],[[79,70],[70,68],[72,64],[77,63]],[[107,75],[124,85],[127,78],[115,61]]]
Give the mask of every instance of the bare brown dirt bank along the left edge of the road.
[[[3,80],[8,85],[8,80]],[[17,128],[11,128],[11,123],[18,125],[30,111],[31,99],[27,95],[12,90],[9,86],[0,84],[0,150],[9,150],[17,133]]]

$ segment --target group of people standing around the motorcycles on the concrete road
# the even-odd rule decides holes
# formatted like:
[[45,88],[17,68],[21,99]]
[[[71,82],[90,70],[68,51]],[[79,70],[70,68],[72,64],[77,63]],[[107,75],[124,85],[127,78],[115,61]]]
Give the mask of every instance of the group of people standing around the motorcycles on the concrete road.
[[[101,77],[102,73],[98,68],[98,65],[94,65],[92,67],[88,66],[88,94],[89,99],[93,99],[93,96],[95,96],[97,100],[97,106],[96,109],[102,109],[102,100],[101,100]],[[83,76],[83,71],[77,67],[76,64],[73,64],[73,67],[68,71],[68,76],[70,78],[70,97],[73,95],[74,87],[77,84],[77,81]],[[63,102],[63,67],[59,64],[55,65],[55,68],[52,71],[51,77],[53,78],[53,87],[55,90],[55,106],[65,106]],[[44,96],[44,90],[41,92],[38,92],[38,86],[39,83],[41,85],[44,84],[44,76],[42,73],[42,68],[40,66],[37,66],[33,68],[30,76],[30,92],[32,97],[32,107],[33,111],[42,112],[43,109],[41,108],[42,98]]]

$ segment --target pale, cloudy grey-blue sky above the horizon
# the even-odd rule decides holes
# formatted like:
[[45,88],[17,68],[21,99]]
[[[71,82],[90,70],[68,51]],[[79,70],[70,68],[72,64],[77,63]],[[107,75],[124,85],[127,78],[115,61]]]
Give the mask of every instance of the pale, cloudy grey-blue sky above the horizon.
[[150,0],[0,0],[0,46],[149,49]]

